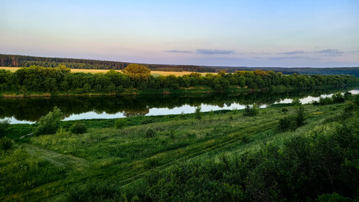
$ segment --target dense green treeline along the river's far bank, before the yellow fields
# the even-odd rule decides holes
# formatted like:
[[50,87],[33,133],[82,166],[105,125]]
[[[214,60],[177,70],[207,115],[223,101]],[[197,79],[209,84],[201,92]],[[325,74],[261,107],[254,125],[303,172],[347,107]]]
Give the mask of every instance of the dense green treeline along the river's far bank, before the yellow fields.
[[[0,70],[0,91],[26,95],[29,92],[42,93],[131,93],[134,88],[149,92],[150,89],[177,89],[191,86],[210,86],[214,91],[226,91],[230,86],[241,88],[271,89],[285,88],[314,89],[344,87],[358,83],[351,75],[282,75],[273,71],[219,72],[218,75],[191,73],[182,77],[169,75],[153,77],[149,73],[145,79],[131,77],[115,70],[106,73],[71,73],[69,68],[43,68],[31,66],[16,72]],[[129,91],[129,92],[126,92]]]

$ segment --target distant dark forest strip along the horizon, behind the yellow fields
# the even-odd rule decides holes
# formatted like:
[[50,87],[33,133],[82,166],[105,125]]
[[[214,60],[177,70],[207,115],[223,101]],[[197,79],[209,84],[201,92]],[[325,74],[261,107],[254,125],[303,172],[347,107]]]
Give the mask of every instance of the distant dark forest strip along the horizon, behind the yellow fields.
[[[0,54],[0,66],[3,67],[30,67],[40,65],[46,68],[55,68],[58,65],[65,65],[72,69],[93,69],[93,70],[123,70],[129,65],[127,62],[118,61],[99,61],[88,59],[61,59],[37,56],[20,56]],[[236,72],[237,70],[272,70],[282,72],[285,75],[305,74],[305,75],[355,75],[359,77],[359,68],[247,68],[247,67],[221,67],[221,66],[200,66],[200,65],[162,65],[162,64],[143,64],[152,71],[167,72]]]

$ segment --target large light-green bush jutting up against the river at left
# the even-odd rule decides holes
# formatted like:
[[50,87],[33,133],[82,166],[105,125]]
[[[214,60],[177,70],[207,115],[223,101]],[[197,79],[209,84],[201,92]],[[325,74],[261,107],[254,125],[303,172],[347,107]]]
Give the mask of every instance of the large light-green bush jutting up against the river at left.
[[60,127],[61,118],[63,118],[63,113],[60,109],[54,107],[54,111],[50,111],[46,116],[41,116],[34,134],[54,134]]

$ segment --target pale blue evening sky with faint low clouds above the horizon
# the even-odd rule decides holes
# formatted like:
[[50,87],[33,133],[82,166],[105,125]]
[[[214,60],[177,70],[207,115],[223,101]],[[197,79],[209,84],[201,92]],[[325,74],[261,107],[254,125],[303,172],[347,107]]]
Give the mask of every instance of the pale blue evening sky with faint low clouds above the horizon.
[[182,65],[359,66],[359,1],[0,0],[0,53]]

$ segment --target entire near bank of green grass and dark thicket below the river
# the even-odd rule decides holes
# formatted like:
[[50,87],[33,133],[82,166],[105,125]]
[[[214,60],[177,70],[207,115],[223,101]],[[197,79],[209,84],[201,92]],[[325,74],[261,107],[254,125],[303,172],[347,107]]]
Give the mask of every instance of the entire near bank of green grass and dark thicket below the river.
[[[358,97],[327,105],[273,104],[255,109],[255,116],[245,116],[255,108],[248,106],[83,120],[86,133],[71,132],[78,121],[60,121],[54,134],[12,135],[13,145],[1,149],[6,178],[0,200],[354,200]],[[289,124],[281,123],[289,117]]]

